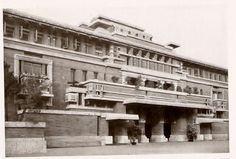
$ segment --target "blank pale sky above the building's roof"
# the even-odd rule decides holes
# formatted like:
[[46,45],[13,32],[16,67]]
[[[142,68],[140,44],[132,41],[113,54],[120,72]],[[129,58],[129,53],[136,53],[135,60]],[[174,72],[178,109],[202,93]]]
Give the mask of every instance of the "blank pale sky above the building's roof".
[[4,8],[17,8],[72,25],[89,23],[93,17],[105,15],[144,28],[153,35],[155,42],[180,44],[177,54],[227,67],[227,10],[224,1],[5,0],[3,2]]

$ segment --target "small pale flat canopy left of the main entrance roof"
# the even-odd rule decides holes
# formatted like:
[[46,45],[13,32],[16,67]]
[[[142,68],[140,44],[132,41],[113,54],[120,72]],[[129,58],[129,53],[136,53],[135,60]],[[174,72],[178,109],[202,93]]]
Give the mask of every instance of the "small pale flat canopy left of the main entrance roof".
[[139,120],[136,114],[104,113],[106,120]]

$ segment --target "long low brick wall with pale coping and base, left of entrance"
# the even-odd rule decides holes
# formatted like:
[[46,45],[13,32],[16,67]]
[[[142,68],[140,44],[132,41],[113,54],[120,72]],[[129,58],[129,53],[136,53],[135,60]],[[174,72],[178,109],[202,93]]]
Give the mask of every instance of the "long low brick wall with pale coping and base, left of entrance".
[[25,121],[46,122],[47,147],[101,146],[110,144],[108,122],[99,112],[28,110]]

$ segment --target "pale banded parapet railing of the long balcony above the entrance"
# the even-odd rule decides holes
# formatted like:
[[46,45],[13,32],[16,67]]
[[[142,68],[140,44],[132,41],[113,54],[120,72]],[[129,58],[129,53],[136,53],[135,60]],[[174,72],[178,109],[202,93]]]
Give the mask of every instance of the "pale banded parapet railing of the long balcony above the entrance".
[[128,98],[149,99],[168,102],[194,103],[210,105],[211,98],[206,96],[188,95],[184,92],[160,90],[154,88],[140,87],[90,80],[84,83],[87,87],[86,98],[125,100]]

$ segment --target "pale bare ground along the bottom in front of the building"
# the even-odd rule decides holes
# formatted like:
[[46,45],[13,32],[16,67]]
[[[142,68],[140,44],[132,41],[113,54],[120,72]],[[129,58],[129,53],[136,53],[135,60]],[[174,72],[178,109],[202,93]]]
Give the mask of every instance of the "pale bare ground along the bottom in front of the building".
[[52,148],[45,154],[22,156],[84,156],[84,155],[137,155],[173,153],[228,153],[228,141],[197,141],[146,143],[138,145],[107,145],[100,147]]

